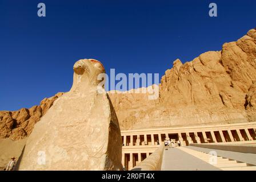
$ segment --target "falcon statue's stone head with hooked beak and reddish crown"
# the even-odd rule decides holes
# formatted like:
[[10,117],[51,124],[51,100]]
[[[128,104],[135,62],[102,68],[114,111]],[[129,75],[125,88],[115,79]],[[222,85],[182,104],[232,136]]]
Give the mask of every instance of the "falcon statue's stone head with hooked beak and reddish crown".
[[70,91],[76,89],[89,89],[90,86],[97,86],[102,80],[98,75],[105,73],[105,68],[95,59],[81,59],[74,64],[73,86]]

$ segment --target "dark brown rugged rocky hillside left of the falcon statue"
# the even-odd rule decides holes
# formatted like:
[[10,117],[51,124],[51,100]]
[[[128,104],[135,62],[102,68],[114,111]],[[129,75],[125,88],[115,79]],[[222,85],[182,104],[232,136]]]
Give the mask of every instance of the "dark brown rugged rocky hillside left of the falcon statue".
[[45,98],[39,106],[33,106],[30,109],[0,111],[0,138],[19,140],[27,137],[33,130],[35,123],[62,94],[60,92],[53,97]]

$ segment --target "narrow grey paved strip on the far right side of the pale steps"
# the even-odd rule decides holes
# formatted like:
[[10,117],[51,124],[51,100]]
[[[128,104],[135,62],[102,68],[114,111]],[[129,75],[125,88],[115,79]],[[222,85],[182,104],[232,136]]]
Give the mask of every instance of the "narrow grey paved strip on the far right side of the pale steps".
[[202,148],[202,147],[194,147],[194,146],[186,146],[186,147],[192,150],[206,152],[206,153],[209,153],[210,151],[216,151],[218,156],[256,165],[256,154],[233,152],[233,151],[226,151],[226,150],[215,150],[213,148]]

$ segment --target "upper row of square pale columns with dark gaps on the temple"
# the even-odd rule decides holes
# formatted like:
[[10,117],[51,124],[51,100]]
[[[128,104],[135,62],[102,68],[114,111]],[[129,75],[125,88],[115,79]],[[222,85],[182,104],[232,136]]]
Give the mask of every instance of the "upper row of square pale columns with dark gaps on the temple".
[[206,130],[206,131],[186,131],[178,133],[154,133],[154,134],[123,134],[123,146],[145,146],[163,143],[165,138],[180,141],[182,146],[190,143],[218,143],[218,142],[238,142],[256,140],[254,128],[226,129],[226,130]]

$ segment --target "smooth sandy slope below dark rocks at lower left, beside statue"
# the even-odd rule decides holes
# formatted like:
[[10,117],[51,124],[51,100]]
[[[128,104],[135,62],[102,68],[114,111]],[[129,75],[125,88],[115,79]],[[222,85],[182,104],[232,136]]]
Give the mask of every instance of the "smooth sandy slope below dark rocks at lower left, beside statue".
[[25,143],[26,139],[18,141],[13,141],[11,139],[0,139],[0,171],[6,167],[12,156],[18,160]]

